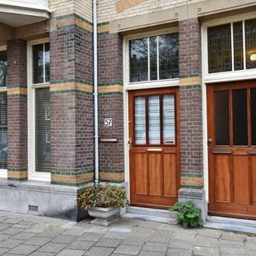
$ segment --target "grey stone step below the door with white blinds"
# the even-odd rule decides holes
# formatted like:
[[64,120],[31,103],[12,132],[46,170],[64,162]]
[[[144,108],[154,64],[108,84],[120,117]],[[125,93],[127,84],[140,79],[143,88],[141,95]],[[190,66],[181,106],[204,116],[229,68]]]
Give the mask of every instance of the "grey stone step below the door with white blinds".
[[156,221],[167,224],[177,224],[177,215],[174,212],[161,209],[151,209],[136,206],[128,206],[122,215],[124,218],[134,218],[143,221]]

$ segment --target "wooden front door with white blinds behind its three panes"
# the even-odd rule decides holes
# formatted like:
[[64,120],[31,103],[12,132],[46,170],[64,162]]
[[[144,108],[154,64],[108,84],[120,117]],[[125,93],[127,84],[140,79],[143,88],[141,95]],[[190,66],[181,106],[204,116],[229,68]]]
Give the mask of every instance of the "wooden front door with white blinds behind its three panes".
[[178,89],[129,93],[130,202],[168,209],[180,184]]

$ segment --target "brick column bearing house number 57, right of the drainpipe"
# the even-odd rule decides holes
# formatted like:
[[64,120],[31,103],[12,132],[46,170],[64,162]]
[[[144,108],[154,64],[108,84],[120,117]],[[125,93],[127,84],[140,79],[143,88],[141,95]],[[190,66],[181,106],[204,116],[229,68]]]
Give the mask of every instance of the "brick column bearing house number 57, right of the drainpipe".
[[[108,34],[108,23],[98,24],[99,52],[99,137],[117,142],[99,142],[99,180],[124,181],[123,149],[123,39]],[[113,126],[105,127],[104,119]]]

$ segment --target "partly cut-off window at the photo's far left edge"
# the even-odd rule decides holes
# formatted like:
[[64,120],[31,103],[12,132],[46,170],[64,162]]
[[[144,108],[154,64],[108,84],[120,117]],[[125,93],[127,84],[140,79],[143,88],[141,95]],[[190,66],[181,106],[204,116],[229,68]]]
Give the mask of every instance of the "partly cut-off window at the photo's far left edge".
[[7,51],[0,50],[0,169],[7,169]]

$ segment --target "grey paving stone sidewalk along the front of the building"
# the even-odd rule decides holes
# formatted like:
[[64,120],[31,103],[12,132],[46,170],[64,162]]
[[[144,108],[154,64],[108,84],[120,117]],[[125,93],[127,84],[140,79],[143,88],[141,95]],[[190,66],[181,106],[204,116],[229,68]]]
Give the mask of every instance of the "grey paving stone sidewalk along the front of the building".
[[0,255],[256,255],[256,236],[129,218],[111,227],[0,212]]

